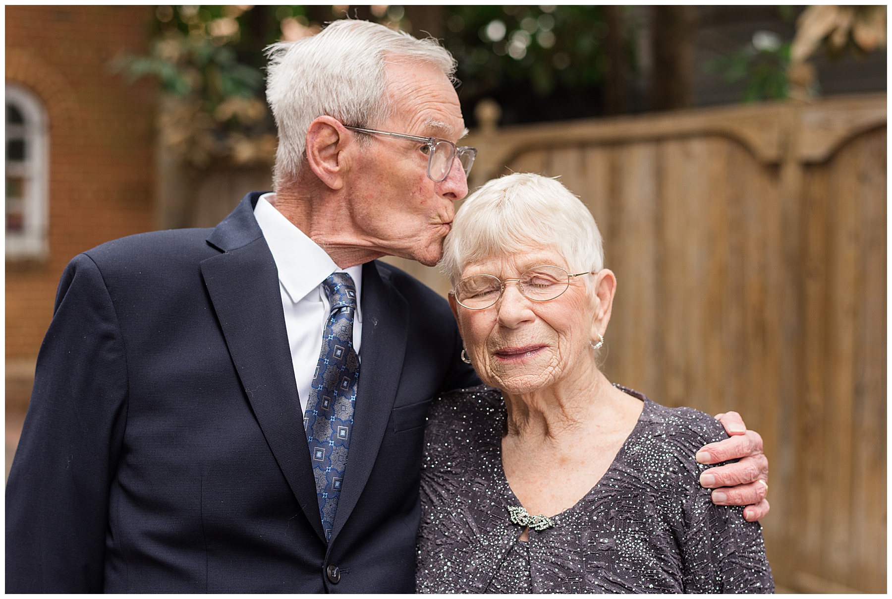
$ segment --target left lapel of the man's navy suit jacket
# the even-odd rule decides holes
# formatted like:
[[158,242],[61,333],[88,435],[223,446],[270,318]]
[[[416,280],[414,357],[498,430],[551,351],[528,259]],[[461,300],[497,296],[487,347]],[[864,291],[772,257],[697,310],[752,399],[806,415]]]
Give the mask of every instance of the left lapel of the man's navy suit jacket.
[[307,520],[325,543],[278,272],[252,214],[259,196],[246,196],[214,229],[208,241],[225,253],[203,261],[202,275],[254,416]]

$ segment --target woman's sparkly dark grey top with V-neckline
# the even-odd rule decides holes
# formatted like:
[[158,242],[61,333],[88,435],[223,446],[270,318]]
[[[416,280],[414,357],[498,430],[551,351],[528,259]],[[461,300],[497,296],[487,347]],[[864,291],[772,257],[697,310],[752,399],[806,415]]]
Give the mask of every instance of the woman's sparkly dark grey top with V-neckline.
[[509,519],[505,403],[473,387],[434,400],[425,431],[420,593],[772,593],[762,528],[699,486],[697,450],[727,437],[711,416],[644,402],[599,483],[554,526]]

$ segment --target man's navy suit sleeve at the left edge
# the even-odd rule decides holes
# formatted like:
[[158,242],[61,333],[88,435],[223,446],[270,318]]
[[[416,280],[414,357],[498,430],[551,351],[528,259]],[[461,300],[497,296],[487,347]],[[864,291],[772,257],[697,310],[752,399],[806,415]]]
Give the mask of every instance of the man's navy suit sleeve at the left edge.
[[6,485],[6,592],[103,592],[127,398],[114,305],[80,254],[62,274]]

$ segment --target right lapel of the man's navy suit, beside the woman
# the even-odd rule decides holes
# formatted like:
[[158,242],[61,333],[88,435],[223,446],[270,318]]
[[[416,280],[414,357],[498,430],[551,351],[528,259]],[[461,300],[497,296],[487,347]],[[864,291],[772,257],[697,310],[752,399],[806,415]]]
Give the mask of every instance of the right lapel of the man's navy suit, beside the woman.
[[363,266],[359,390],[333,540],[356,507],[384,439],[406,354],[408,311],[409,304],[381,278],[376,262]]

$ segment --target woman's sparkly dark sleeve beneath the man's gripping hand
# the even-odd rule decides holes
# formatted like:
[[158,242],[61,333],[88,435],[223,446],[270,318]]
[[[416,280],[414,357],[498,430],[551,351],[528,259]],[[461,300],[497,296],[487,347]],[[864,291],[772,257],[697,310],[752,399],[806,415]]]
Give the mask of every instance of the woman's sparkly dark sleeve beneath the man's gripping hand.
[[[706,434],[698,436],[695,452],[706,443],[727,437],[721,424],[704,416],[708,419],[704,421]],[[692,456],[693,452],[693,462]],[[685,592],[773,593],[762,526],[744,520],[740,506],[712,503],[710,490],[700,487],[698,482],[699,473],[706,466],[693,464],[690,495],[684,508],[686,527],[681,539]]]

